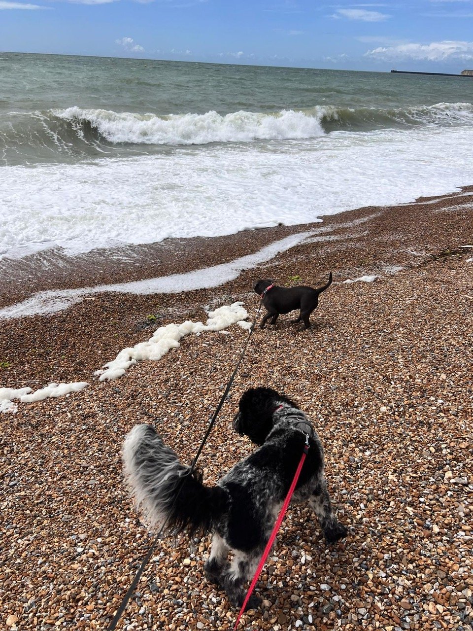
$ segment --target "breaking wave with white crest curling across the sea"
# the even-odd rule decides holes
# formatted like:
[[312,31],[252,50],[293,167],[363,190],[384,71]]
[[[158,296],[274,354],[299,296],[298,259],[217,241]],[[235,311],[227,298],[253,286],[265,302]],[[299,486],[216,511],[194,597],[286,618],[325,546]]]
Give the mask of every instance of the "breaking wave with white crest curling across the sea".
[[[412,126],[472,126],[472,103],[436,103],[405,109],[329,105],[278,112],[141,114],[69,107],[10,112],[0,119],[0,162],[62,161],[118,153],[149,153],[150,146],[311,139],[334,131]],[[151,150],[152,151],[152,150]]]

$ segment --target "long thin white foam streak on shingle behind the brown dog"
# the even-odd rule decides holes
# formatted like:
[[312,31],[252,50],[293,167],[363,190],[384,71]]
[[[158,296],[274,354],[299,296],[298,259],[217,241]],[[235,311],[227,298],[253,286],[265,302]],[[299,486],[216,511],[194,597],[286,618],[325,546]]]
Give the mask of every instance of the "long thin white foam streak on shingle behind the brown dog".
[[213,267],[194,269],[183,274],[157,276],[156,278],[145,278],[144,280],[131,281],[129,283],[37,292],[30,298],[23,300],[23,302],[1,309],[0,320],[26,317],[29,315],[51,315],[78,304],[78,302],[81,302],[81,300],[84,300],[94,293],[117,292],[148,295],[156,293],[190,292],[198,289],[217,287],[231,280],[235,280],[245,269],[252,269],[266,261],[270,261],[277,256],[277,254],[300,244],[308,237],[312,237],[316,232],[317,231],[313,230],[289,235],[289,237],[266,245],[266,247],[254,254],[248,254],[234,261]]

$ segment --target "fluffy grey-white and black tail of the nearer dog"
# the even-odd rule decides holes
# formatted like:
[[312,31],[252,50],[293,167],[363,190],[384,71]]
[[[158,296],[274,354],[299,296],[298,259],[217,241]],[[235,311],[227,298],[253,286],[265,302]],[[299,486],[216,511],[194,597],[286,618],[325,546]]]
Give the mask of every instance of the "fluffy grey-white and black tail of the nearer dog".
[[151,425],[135,425],[127,434],[122,459],[137,508],[152,528],[204,534],[228,510],[226,492],[204,487],[201,473],[181,464]]

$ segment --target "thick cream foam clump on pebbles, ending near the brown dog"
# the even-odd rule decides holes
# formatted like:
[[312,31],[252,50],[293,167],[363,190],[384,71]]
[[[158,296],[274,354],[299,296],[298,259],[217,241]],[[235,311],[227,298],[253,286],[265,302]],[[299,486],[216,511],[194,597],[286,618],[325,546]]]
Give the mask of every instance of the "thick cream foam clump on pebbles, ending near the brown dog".
[[[182,324],[168,324],[156,329],[153,336],[146,342],[140,342],[132,348],[124,348],[112,362],[105,364],[106,370],[96,370],[95,375],[100,375],[100,381],[118,379],[126,370],[136,362],[143,360],[158,361],[166,355],[171,348],[178,348],[179,341],[189,333],[202,333],[202,331],[223,331],[231,324],[243,324],[248,317],[248,312],[243,308],[243,302],[234,302],[230,307],[223,306],[209,312],[206,324],[186,320]],[[247,324],[245,322],[245,324]],[[251,325],[250,325],[251,326]]]

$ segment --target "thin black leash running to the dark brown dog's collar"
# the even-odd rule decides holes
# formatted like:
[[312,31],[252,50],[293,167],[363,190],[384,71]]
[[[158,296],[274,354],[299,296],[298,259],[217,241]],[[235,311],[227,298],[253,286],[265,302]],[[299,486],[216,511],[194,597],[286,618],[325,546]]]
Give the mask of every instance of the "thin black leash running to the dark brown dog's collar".
[[[243,357],[245,356],[245,352],[246,352],[246,350],[248,348],[248,345],[250,343],[250,339],[251,339],[251,336],[252,336],[253,331],[255,329],[256,322],[257,322],[257,319],[258,319],[259,312],[261,310],[262,304],[263,304],[263,298],[261,298],[261,300],[260,300],[260,304],[259,304],[259,307],[258,307],[258,310],[257,310],[257,313],[256,313],[256,317],[255,317],[254,322],[252,323],[252,325],[250,327],[250,333],[248,334],[247,342],[246,342],[245,346],[243,346],[243,350],[240,353],[240,358],[238,358],[238,362],[237,362],[237,365],[235,366],[235,370],[233,370],[233,373],[231,374],[231,377],[228,380],[228,384],[227,384],[227,386],[225,388],[225,392],[223,392],[223,394],[222,394],[222,396],[220,398],[218,406],[216,407],[216,410],[214,411],[214,414],[213,414],[213,416],[212,416],[212,418],[211,418],[211,420],[209,422],[209,427],[207,427],[207,431],[204,434],[204,437],[203,437],[203,439],[201,441],[201,444],[199,445],[199,449],[197,449],[196,456],[194,457],[194,460],[190,464],[189,471],[185,474],[186,476],[191,475],[192,471],[194,471],[194,468],[195,468],[196,463],[197,463],[197,459],[201,455],[202,449],[204,449],[204,445],[207,442],[207,438],[209,437],[209,435],[210,435],[210,433],[211,433],[211,431],[212,431],[212,429],[213,429],[213,427],[215,425],[218,413],[221,410],[223,404],[225,403],[225,399],[226,399],[226,396],[227,396],[228,392],[230,392],[231,384],[233,384],[233,380],[235,380],[235,377],[237,376],[238,368],[240,367],[240,363],[242,363]],[[179,497],[179,493],[182,490],[182,485],[183,484],[184,484],[184,480],[181,481],[180,487],[178,487],[178,489],[177,489],[177,493],[176,493],[176,495],[174,497],[174,501],[173,501],[173,504],[171,506],[171,509],[174,507],[175,503],[177,502],[177,499]],[[141,565],[139,566],[139,568],[138,568],[138,570],[136,572],[136,575],[135,575],[133,581],[131,582],[131,585],[127,589],[127,593],[123,597],[119,608],[117,609],[117,611],[115,612],[114,617],[112,618],[112,622],[110,622],[110,625],[108,625],[108,627],[107,627],[107,631],[114,631],[115,628],[117,627],[117,624],[118,624],[120,618],[122,617],[122,614],[126,610],[127,604],[129,603],[129,600],[130,600],[130,598],[131,598],[131,596],[132,596],[132,594],[133,594],[133,592],[134,592],[134,590],[135,590],[135,588],[136,588],[136,586],[137,586],[137,584],[139,582],[139,579],[141,579],[141,575],[143,574],[144,568],[148,564],[149,559],[151,558],[151,555],[153,554],[153,551],[155,551],[156,545],[158,544],[158,541],[161,538],[161,534],[163,533],[163,530],[165,529],[167,521],[168,521],[168,517],[165,519],[163,524],[161,524],[160,531],[158,532],[158,534],[156,534],[156,537],[155,537],[155,540],[153,541],[153,543],[151,543],[151,546],[150,546],[150,548],[148,550],[148,553],[146,554],[146,557],[144,557],[143,561],[141,562]]]

